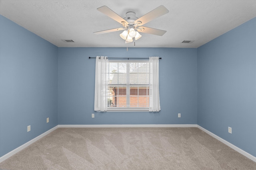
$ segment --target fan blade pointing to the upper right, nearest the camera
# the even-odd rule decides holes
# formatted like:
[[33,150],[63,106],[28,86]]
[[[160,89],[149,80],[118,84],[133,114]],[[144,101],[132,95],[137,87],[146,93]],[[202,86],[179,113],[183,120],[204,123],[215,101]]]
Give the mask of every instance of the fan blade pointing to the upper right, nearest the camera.
[[154,10],[148,12],[144,16],[138,18],[134,23],[137,23],[138,21],[141,21],[142,23],[140,25],[144,25],[145,23],[148,23],[149,21],[152,21],[164,14],[167,14],[169,10],[167,10],[163,5],[158,6]]

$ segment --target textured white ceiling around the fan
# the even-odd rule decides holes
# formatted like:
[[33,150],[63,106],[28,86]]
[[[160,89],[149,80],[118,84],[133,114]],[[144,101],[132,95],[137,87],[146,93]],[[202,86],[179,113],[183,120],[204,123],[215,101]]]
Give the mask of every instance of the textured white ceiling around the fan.
[[170,11],[144,25],[167,32],[141,33],[135,47],[197,48],[256,17],[256,0],[0,0],[0,14],[58,47],[134,47],[122,31],[93,33],[122,27],[96,10],[104,5],[122,18],[129,11],[140,18],[160,5]]

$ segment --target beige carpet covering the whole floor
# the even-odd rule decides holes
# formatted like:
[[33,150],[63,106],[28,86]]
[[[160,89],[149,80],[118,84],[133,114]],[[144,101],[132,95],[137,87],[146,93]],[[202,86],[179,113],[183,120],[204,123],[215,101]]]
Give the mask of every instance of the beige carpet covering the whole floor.
[[4,170],[256,170],[198,128],[58,128]]

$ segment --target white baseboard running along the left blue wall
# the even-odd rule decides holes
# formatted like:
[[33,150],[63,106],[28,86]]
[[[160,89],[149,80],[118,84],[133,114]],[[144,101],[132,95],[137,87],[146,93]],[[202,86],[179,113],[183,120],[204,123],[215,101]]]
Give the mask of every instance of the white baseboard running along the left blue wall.
[[12,151],[10,151],[10,152],[8,152],[8,153],[5,154],[4,156],[1,156],[1,157],[0,157],[0,163],[3,162],[4,160],[10,158],[12,155],[14,155],[14,154],[20,152],[20,150],[22,150],[22,149],[28,147],[28,146],[31,145],[32,143],[38,141],[38,140],[41,139],[42,137],[48,135],[49,133],[51,133],[52,131],[54,131],[54,130],[57,129],[57,128],[58,128],[58,125],[55,126],[55,127],[53,127],[52,129],[50,129],[50,130],[48,130],[48,131],[42,133],[42,134],[39,135],[38,137],[35,137],[34,139],[31,139],[31,140],[28,141],[27,143],[24,143],[24,144],[21,145],[20,147],[18,147],[18,148],[16,148],[16,149],[12,150]]

